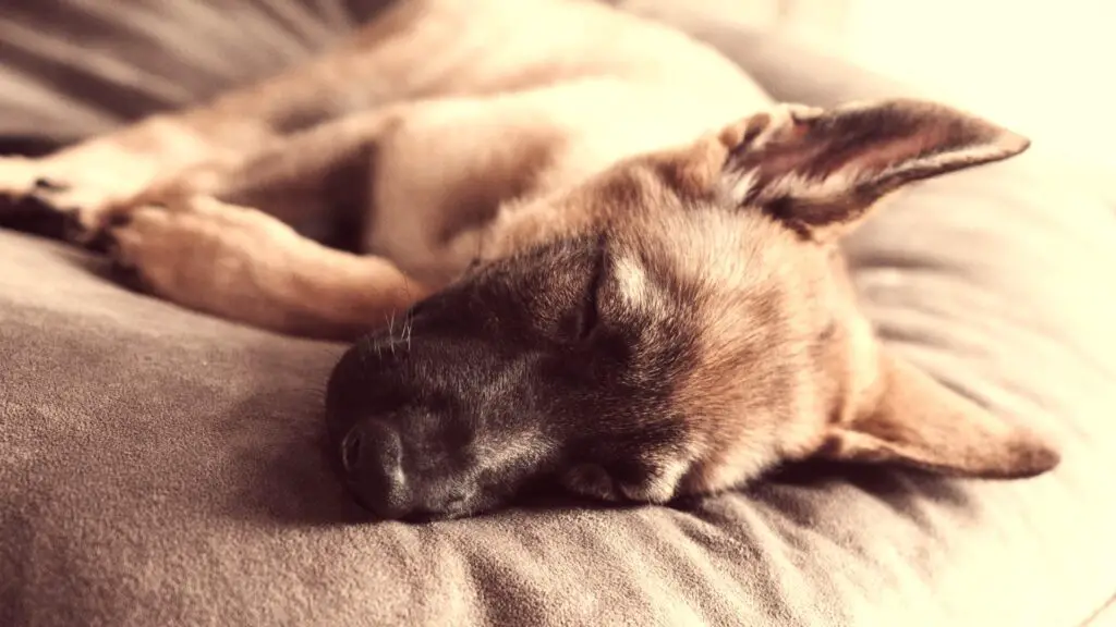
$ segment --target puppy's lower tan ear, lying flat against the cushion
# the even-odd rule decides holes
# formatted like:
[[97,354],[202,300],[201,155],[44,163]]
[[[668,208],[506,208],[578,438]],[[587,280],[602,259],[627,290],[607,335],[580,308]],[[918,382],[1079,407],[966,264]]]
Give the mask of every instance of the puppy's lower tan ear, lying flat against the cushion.
[[829,425],[819,457],[983,479],[1029,478],[1058,465],[1054,446],[914,366],[885,357],[881,374],[877,402],[847,424]]

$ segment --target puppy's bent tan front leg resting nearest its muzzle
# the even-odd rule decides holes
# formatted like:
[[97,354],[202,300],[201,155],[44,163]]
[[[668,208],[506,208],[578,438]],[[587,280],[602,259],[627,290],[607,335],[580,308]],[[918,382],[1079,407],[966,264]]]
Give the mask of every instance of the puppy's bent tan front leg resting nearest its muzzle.
[[205,196],[136,209],[108,235],[116,271],[133,287],[287,335],[350,340],[430,292],[387,260],[325,248]]

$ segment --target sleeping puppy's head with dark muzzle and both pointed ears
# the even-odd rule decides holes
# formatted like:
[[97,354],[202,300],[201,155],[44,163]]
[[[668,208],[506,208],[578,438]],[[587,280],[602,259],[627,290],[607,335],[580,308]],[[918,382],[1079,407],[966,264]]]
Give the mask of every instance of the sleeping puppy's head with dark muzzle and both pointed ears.
[[1021,153],[943,106],[782,106],[508,212],[480,262],[354,347],[329,407],[349,485],[452,517],[550,476],[710,493],[810,456],[1021,478],[1058,454],[889,356],[836,249],[904,185]]

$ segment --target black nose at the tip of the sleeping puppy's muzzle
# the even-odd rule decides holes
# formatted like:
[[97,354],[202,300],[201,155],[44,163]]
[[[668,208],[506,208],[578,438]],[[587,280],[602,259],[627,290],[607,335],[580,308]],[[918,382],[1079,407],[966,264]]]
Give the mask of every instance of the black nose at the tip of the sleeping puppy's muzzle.
[[385,520],[411,513],[403,450],[395,430],[377,422],[357,424],[341,440],[338,453],[348,486],[362,505]]

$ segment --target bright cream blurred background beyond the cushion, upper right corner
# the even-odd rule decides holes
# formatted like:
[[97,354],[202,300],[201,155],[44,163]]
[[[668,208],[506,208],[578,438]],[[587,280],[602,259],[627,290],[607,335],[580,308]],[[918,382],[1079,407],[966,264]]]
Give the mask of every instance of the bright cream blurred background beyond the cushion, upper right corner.
[[[627,0],[620,4],[661,4]],[[680,0],[933,89],[1116,174],[1112,0]],[[1099,172],[1098,172],[1099,173]]]

